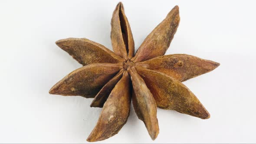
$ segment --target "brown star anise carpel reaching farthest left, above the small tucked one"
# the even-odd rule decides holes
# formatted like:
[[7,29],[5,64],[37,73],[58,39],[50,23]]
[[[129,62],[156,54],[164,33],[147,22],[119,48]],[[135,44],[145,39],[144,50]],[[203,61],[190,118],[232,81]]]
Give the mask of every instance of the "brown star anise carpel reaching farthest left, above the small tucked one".
[[55,95],[80,95],[94,98],[99,90],[121,69],[120,64],[99,63],[76,69],[49,91]]

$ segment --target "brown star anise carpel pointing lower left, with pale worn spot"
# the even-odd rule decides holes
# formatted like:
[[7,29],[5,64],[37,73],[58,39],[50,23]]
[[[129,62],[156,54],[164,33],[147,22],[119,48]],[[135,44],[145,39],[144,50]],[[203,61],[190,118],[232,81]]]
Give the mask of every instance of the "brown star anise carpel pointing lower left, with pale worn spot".
[[[131,93],[128,72],[124,72],[120,81],[105,102],[95,128],[87,141],[102,141],[117,134],[126,123],[130,112]],[[122,89],[122,91],[120,91]]]

